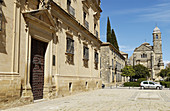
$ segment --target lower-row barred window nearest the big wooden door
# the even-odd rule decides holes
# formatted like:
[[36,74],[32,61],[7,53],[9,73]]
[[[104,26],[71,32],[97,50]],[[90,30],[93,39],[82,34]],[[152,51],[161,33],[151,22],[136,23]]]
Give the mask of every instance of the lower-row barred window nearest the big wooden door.
[[67,37],[67,49],[66,49],[67,60],[69,64],[74,64],[74,40]]

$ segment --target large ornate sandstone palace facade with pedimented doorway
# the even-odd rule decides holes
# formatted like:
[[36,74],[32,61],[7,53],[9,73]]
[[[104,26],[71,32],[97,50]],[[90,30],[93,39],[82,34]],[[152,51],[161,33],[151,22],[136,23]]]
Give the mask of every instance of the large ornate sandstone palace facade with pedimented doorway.
[[100,0],[0,0],[0,108],[101,88]]

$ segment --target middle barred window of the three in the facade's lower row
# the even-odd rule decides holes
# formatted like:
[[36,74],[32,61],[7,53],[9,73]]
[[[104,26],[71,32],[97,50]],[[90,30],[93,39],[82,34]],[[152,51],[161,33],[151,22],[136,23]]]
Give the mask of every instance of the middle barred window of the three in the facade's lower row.
[[83,47],[83,61],[84,61],[84,67],[88,67],[88,60],[89,60],[89,48],[84,45]]

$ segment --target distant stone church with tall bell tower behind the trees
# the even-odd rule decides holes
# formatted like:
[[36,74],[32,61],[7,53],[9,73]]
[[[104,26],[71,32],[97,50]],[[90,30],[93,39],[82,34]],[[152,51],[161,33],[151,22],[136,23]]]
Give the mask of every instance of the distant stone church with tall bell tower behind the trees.
[[134,50],[130,57],[129,64],[142,64],[147,67],[151,74],[151,79],[158,79],[157,74],[164,69],[162,60],[162,39],[160,29],[156,26],[153,30],[153,46],[143,43]]

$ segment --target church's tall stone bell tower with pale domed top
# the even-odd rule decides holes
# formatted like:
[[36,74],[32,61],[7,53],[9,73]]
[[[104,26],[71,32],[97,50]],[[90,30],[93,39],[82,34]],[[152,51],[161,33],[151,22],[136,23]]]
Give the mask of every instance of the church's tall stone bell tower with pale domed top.
[[162,39],[160,29],[156,26],[153,30],[153,51],[154,51],[154,70],[158,74],[161,69],[164,69],[162,60]]

